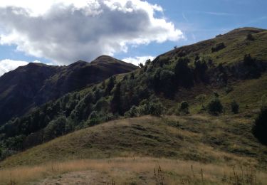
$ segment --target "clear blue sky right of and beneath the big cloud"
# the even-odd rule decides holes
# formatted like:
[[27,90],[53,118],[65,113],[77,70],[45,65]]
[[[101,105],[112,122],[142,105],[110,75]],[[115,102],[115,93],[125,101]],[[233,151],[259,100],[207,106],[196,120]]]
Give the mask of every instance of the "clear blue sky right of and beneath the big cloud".
[[118,56],[157,56],[173,46],[184,46],[213,38],[240,27],[267,29],[266,0],[150,0],[164,9],[164,16],[182,30],[186,40],[152,43],[132,48],[129,53]]

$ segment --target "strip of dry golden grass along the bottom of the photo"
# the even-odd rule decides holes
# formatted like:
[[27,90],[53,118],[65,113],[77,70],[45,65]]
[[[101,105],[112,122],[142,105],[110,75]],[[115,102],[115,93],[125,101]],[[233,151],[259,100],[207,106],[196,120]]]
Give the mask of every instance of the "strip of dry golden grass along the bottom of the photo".
[[[84,176],[80,179],[81,171]],[[0,171],[0,184],[56,184],[66,180],[75,184],[78,179],[91,184],[266,184],[267,174],[253,166],[150,157],[73,160]]]

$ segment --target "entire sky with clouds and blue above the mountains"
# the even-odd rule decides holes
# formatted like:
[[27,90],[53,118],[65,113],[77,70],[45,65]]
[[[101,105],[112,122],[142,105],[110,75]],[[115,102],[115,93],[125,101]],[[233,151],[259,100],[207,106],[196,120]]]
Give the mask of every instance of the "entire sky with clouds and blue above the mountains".
[[109,55],[137,65],[234,28],[267,29],[266,0],[1,0],[0,75]]

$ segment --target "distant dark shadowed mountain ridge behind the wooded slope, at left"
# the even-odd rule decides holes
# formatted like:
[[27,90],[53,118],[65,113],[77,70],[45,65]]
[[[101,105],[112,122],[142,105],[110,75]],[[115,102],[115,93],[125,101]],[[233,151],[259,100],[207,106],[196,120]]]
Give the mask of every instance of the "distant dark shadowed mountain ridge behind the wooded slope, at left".
[[135,69],[137,66],[108,56],[68,66],[29,63],[19,67],[0,77],[0,125],[66,93]]

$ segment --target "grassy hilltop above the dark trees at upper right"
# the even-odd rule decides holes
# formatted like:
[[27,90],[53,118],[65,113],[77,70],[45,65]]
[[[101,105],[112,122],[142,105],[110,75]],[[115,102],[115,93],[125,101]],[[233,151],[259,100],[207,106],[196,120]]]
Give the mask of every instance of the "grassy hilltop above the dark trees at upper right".
[[[252,39],[248,39],[248,34],[251,34]],[[160,57],[188,56],[194,59],[196,55],[199,55],[207,60],[213,60],[216,65],[219,63],[229,65],[242,61],[245,54],[251,53],[258,60],[266,61],[266,39],[267,31],[264,29],[238,28],[224,35],[216,36],[216,38],[174,49]],[[211,48],[215,48],[219,43],[224,43],[224,48],[212,52]]]

